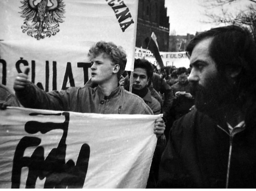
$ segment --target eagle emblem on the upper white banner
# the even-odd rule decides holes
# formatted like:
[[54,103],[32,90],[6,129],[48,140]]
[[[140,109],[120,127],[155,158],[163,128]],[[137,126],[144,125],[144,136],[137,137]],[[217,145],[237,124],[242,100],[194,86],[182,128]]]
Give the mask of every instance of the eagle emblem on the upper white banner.
[[21,17],[25,18],[22,32],[37,40],[56,35],[59,23],[64,22],[64,3],[62,0],[23,0]]

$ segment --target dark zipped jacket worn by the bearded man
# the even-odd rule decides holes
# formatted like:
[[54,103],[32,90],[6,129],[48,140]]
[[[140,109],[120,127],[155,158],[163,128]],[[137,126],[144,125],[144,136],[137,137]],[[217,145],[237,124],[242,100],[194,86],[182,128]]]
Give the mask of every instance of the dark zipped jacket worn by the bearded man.
[[[229,187],[256,187],[256,129],[233,138]],[[228,130],[227,130],[228,131]],[[225,188],[229,135],[196,109],[175,121],[160,164],[159,188]]]

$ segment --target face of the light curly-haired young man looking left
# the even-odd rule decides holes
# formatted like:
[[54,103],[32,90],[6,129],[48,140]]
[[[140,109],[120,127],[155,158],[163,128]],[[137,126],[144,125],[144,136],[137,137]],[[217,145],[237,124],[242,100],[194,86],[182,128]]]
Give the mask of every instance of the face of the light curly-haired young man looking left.
[[113,76],[115,65],[104,53],[90,58],[92,63],[91,75],[92,82],[96,84],[103,84],[108,82]]

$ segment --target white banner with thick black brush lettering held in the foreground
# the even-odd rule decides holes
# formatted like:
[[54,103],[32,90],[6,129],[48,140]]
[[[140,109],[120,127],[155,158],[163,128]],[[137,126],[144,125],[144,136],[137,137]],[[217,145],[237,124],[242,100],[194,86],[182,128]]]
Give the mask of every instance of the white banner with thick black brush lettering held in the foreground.
[[160,116],[0,110],[0,188],[145,188]]

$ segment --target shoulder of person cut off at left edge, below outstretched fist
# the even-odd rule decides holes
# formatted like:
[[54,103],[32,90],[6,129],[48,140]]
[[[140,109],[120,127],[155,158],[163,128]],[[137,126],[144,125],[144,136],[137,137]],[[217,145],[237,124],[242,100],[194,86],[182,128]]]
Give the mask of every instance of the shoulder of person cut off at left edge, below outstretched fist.
[[20,103],[11,90],[0,84],[0,107],[4,109],[7,106],[20,107]]

